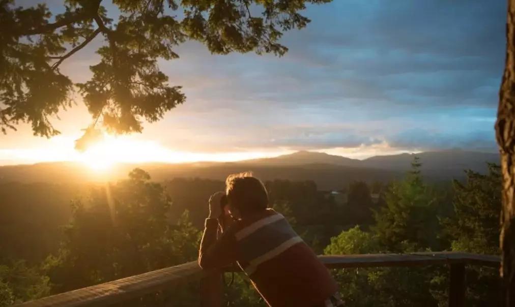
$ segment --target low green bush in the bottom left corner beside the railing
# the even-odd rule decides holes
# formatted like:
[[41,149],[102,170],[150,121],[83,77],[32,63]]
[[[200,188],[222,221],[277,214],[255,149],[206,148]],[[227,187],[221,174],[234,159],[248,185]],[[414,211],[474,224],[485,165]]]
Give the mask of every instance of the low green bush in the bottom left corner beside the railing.
[[0,306],[32,300],[50,293],[48,277],[22,261],[0,265]]

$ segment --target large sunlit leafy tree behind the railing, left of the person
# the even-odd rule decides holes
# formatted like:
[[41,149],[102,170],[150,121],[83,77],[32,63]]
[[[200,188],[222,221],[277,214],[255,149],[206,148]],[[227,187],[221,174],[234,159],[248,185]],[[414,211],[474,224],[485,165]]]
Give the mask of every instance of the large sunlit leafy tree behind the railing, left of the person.
[[129,179],[91,191],[74,203],[73,218],[57,256],[46,266],[62,292],[194,260],[200,232],[185,212],[170,226],[169,196],[134,169]]

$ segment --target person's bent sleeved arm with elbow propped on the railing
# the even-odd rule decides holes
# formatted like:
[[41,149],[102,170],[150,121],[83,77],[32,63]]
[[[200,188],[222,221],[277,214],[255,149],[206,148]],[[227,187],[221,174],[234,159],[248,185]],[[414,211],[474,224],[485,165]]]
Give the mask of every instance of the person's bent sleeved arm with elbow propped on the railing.
[[236,240],[230,229],[217,240],[217,219],[206,219],[198,256],[203,269],[221,268],[236,261]]

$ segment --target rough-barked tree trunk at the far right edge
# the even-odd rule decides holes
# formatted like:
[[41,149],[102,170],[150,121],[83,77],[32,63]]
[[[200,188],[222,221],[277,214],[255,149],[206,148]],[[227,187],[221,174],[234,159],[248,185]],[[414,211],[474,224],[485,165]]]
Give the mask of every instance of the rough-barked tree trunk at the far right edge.
[[501,153],[503,209],[501,248],[504,306],[515,306],[515,0],[508,0],[506,63],[495,132]]

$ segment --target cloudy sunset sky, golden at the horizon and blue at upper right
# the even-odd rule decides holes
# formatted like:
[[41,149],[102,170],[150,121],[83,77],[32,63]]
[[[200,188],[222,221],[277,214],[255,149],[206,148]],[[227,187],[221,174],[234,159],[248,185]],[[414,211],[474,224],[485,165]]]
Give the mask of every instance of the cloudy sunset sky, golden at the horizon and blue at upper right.
[[[57,12],[58,3],[48,5]],[[0,135],[0,165],[109,159],[113,152],[134,162],[227,161],[297,150],[360,159],[453,148],[494,152],[505,6],[500,0],[310,5],[303,14],[312,22],[284,34],[283,57],[211,55],[186,42],[176,48],[179,59],[159,61],[187,96],[163,120],[81,154],[73,143],[91,118],[77,96],[77,105],[53,120],[61,135],[36,137],[23,124]],[[101,44],[95,40],[76,53],[62,72],[74,82],[88,80]]]

